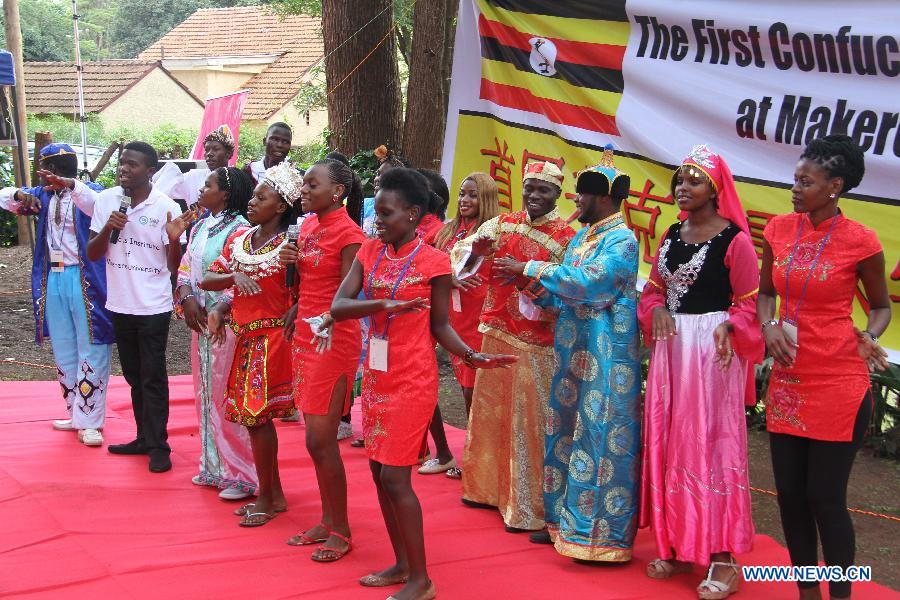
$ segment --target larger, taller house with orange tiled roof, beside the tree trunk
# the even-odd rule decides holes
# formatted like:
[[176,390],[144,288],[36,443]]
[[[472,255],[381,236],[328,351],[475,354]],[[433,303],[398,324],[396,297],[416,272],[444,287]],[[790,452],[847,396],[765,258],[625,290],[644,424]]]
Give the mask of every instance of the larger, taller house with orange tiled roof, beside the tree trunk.
[[138,55],[163,66],[200,98],[249,89],[245,121],[287,121],[294,142],[318,136],[324,110],[301,114],[295,99],[324,55],[321,21],[263,6],[201,8]]

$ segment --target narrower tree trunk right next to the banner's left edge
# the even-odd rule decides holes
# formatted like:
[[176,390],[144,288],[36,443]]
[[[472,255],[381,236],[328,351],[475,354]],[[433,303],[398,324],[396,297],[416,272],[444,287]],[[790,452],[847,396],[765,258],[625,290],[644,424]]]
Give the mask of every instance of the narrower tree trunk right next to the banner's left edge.
[[414,9],[403,154],[416,167],[439,169],[441,165],[453,56],[452,23],[458,2],[418,2]]

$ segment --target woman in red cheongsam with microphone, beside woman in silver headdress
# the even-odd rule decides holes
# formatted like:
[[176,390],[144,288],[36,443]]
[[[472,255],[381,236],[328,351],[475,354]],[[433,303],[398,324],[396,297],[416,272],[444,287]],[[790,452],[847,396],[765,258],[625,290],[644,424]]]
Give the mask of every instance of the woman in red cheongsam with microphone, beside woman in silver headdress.
[[296,265],[300,286],[291,336],[294,401],[303,411],[306,448],[316,468],[322,497],[319,524],[295,535],[288,544],[324,542],[312,554],[317,562],[333,562],[350,551],[347,476],[337,433],[341,415],[350,408],[359,363],[359,321],[342,321],[332,329],[320,329],[316,317],[327,313],[366,239],[350,218],[351,213],[359,213],[361,203],[359,178],[350,167],[336,160],[317,162],[304,175],[300,188],[300,207],[307,217],[297,244],[286,244],[281,251],[282,264]]

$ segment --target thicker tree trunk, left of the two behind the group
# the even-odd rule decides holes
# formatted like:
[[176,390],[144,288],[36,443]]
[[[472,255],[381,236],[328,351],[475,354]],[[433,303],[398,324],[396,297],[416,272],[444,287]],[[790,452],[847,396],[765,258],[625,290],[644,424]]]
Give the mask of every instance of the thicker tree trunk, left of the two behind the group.
[[325,54],[334,52],[325,63],[329,145],[347,156],[381,144],[396,148],[400,141],[403,109],[390,6],[391,0],[322,2]]

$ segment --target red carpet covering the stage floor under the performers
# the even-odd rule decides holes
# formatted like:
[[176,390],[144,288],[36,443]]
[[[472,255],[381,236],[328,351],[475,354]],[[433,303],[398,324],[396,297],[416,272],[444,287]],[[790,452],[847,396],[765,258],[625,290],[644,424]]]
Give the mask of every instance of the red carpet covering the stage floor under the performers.
[[[334,564],[285,540],[319,519],[319,495],[303,430],[279,424],[281,472],[290,509],[256,529],[237,526],[234,504],[191,484],[199,444],[189,377],[171,380],[169,441],[174,468],[147,470],[146,457],[112,456],[75,434],[53,431],[62,416],[54,382],[0,383],[0,596],[18,598],[386,598],[357,579],[387,566],[391,551],[364,451],[341,445],[350,482],[353,551]],[[104,435],[133,438],[127,388],[115,378]],[[357,425],[358,426],[358,425]],[[461,453],[464,434],[448,428]],[[638,536],[628,565],[584,566],[548,546],[505,533],[492,511],[459,502],[460,485],[415,475],[425,510],[428,563],[440,598],[696,598],[701,576],[654,581],[644,564],[651,538]],[[787,552],[758,536],[743,564],[787,564]],[[854,598],[900,597],[858,584]],[[793,599],[793,584],[744,584],[738,598]]]

